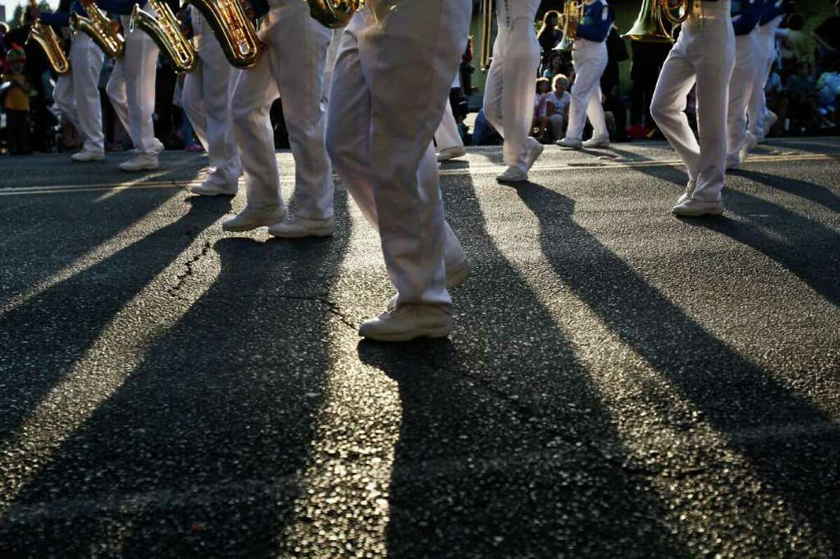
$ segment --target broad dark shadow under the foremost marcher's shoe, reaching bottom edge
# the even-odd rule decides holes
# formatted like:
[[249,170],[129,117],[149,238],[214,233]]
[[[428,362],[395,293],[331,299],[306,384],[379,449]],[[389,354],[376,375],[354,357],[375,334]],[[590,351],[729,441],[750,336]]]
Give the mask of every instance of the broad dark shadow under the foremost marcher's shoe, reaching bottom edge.
[[685,555],[575,350],[491,239],[465,182],[447,201],[474,266],[454,290],[453,341],[359,346],[400,390],[389,554]]

